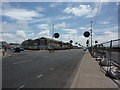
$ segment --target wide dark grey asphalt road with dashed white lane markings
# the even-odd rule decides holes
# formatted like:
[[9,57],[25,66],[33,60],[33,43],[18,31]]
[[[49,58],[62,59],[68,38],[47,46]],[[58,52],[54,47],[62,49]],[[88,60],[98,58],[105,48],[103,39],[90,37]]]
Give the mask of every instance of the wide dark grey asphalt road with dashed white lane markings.
[[72,83],[83,50],[24,51],[2,60],[3,88],[63,88]]

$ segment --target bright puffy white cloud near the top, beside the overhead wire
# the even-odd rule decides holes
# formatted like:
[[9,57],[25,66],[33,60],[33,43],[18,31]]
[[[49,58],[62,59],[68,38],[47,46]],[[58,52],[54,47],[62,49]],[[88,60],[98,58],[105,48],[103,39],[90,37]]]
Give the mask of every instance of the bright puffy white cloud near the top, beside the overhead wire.
[[[94,2],[95,3],[95,2]],[[64,9],[64,12],[67,14],[73,14],[75,16],[83,16],[85,18],[91,18],[94,17],[98,10],[99,2],[96,2],[94,7],[91,7],[91,5],[79,5],[78,7],[71,7],[68,6],[66,9]],[[100,9],[102,8],[102,5],[100,4]]]

